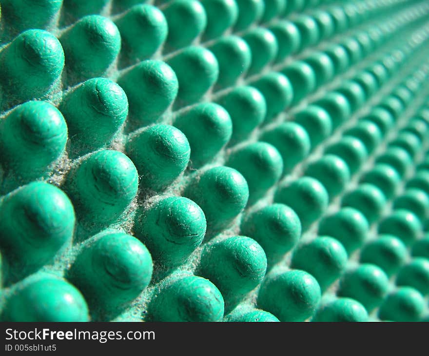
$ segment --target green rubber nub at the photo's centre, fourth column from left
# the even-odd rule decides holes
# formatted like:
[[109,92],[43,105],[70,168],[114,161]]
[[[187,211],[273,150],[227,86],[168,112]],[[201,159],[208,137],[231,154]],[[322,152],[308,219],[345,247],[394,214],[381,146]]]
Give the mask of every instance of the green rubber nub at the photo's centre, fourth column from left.
[[238,171],[220,166],[202,173],[186,188],[184,196],[201,207],[207,229],[213,232],[225,228],[240,214],[249,199],[249,187]]

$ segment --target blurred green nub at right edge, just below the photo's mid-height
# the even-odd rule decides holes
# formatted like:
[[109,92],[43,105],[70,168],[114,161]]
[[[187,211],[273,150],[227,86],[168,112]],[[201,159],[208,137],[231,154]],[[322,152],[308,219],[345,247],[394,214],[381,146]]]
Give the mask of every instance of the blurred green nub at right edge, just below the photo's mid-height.
[[421,189],[409,188],[393,201],[393,209],[406,209],[414,213],[422,224],[428,217],[429,197]]

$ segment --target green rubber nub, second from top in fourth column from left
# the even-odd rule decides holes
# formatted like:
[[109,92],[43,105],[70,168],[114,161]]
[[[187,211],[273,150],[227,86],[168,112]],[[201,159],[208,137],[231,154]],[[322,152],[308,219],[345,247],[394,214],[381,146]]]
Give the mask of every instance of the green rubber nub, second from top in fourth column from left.
[[204,96],[219,74],[216,57],[203,47],[187,47],[169,59],[168,64],[179,83],[177,98],[186,103],[193,103]]

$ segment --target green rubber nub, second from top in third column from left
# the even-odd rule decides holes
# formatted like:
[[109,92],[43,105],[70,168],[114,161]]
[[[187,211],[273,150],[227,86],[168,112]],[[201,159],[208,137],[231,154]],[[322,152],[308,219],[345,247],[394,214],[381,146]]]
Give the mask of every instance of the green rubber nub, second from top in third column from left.
[[158,60],[145,60],[118,79],[127,94],[130,118],[139,126],[153,122],[176,99],[178,81],[169,65]]

